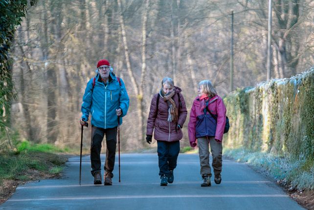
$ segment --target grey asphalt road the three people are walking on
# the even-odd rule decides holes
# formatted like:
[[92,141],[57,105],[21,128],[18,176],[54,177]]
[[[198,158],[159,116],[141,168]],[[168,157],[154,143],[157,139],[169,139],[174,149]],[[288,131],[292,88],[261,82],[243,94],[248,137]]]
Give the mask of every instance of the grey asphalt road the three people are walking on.
[[[90,157],[67,162],[62,179],[40,180],[17,188],[3,210],[298,210],[303,209],[271,180],[246,164],[223,161],[222,183],[201,187],[198,155],[179,154],[175,181],[160,186],[157,154],[122,154],[112,186],[94,186]],[[102,156],[102,160],[105,157]],[[102,171],[103,172],[103,171]]]

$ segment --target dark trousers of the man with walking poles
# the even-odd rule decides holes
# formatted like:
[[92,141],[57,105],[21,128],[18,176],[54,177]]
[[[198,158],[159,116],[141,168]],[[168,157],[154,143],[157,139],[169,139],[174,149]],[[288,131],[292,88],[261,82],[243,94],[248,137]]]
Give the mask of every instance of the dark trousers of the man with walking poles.
[[117,127],[103,129],[91,126],[91,144],[90,144],[90,162],[91,174],[101,171],[101,143],[106,135],[106,162],[104,169],[106,172],[112,174],[115,160],[115,148],[117,143]]

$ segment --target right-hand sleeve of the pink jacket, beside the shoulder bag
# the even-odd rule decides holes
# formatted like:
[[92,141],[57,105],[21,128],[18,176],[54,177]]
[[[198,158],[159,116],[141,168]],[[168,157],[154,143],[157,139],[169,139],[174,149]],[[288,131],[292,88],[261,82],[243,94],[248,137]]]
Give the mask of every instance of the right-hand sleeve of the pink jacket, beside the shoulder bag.
[[224,135],[226,108],[225,108],[223,99],[220,97],[217,100],[216,112],[218,116],[217,116],[217,127],[216,127],[215,139],[222,142],[223,135]]

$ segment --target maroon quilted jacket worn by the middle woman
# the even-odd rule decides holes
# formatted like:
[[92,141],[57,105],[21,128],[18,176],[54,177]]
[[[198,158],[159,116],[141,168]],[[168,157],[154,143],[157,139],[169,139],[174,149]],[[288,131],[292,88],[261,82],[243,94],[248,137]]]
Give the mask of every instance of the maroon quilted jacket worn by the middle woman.
[[[179,87],[176,88],[176,94],[173,96],[173,99],[178,107],[179,111],[179,120],[178,124],[182,127],[186,115],[187,110],[185,106],[185,101],[182,96],[181,89]],[[180,101],[182,106],[179,106],[179,97],[180,94]],[[158,111],[157,109],[157,96],[159,93],[154,94],[154,97],[151,102],[151,107],[149,110],[148,120],[147,120],[147,130],[146,135],[153,135],[154,131],[154,138],[158,141],[167,141],[167,142],[175,142],[182,139],[183,133],[181,129],[176,129],[176,122],[168,122],[168,105],[161,97],[159,98],[158,103]]]

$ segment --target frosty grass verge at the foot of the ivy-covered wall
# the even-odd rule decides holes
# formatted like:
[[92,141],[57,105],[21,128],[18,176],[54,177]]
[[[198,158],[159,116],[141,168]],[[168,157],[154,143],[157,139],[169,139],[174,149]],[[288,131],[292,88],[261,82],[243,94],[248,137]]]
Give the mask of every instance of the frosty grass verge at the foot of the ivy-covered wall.
[[289,155],[276,156],[270,153],[251,152],[242,148],[224,149],[223,154],[239,162],[265,168],[275,180],[298,190],[314,189],[314,158],[302,156],[295,160]]

